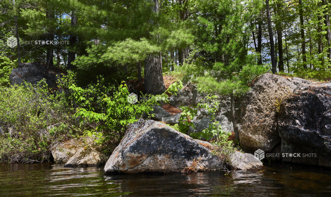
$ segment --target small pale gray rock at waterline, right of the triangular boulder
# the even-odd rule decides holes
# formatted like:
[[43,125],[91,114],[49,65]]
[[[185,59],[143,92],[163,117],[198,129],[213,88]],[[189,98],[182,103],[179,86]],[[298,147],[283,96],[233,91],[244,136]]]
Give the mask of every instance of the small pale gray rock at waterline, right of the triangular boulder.
[[234,152],[231,155],[232,166],[237,170],[247,170],[262,166],[262,162],[249,153]]

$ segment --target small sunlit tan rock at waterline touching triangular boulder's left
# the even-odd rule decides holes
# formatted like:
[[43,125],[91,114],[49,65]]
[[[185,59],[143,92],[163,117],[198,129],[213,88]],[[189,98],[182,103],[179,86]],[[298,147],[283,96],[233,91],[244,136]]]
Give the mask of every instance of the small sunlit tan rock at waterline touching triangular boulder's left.
[[105,153],[97,151],[92,147],[79,148],[64,167],[102,166],[107,162],[108,158]]

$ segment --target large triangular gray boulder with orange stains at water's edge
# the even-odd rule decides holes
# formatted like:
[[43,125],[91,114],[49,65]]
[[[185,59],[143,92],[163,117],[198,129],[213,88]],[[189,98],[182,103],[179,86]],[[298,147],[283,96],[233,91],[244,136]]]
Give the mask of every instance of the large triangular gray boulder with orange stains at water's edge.
[[152,120],[131,124],[107,161],[105,173],[219,170],[221,162],[188,135]]

